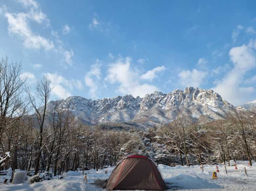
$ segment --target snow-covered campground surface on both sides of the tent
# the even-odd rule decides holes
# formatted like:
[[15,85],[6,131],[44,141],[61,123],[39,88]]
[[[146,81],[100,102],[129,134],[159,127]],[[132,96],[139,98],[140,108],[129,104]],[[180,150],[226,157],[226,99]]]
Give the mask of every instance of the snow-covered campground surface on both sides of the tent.
[[[232,162],[231,165],[234,163]],[[204,165],[204,171],[196,166],[175,166],[159,165],[162,176],[169,187],[168,190],[200,190],[200,191],[254,191],[256,190],[256,163],[247,166],[246,161],[237,162],[238,170],[234,166],[226,166],[228,174],[225,173],[224,165],[219,165],[220,173],[217,173],[218,179],[212,179],[212,172],[216,171],[215,165]],[[248,177],[245,175],[246,167]],[[105,174],[105,170],[108,174]],[[36,182],[33,184],[1,184],[1,191],[101,191],[104,190],[93,184],[95,180],[106,180],[113,167],[96,171],[91,169],[87,173],[88,183],[83,182],[82,172],[69,171],[64,174],[64,179],[59,180],[54,177],[53,180]],[[9,176],[0,176],[0,182]],[[9,182],[9,181],[8,181]]]

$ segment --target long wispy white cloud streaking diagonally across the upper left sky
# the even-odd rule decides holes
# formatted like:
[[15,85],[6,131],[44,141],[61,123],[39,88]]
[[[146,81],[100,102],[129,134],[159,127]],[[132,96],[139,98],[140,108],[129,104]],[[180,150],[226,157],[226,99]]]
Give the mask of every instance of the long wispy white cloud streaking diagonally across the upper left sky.
[[[8,21],[8,31],[9,34],[14,36],[16,35],[23,41],[23,45],[26,48],[30,49],[40,49],[43,48],[46,51],[53,50],[55,53],[60,54],[63,57],[63,61],[68,63],[70,66],[73,65],[73,50],[67,50],[64,48],[64,45],[61,40],[59,40],[58,34],[56,31],[51,31],[51,34],[56,38],[56,42],[59,43],[58,48],[55,47],[53,41],[40,36],[37,32],[33,32],[30,23],[35,21],[38,24],[46,23],[46,26],[50,26],[50,21],[47,19],[47,15],[43,13],[39,4],[33,0],[18,0],[23,7],[28,9],[27,12],[18,12],[10,13],[5,9],[1,8],[1,11],[4,11],[4,15]],[[3,7],[3,6],[2,6]],[[68,28],[64,27],[65,32],[68,32]]]

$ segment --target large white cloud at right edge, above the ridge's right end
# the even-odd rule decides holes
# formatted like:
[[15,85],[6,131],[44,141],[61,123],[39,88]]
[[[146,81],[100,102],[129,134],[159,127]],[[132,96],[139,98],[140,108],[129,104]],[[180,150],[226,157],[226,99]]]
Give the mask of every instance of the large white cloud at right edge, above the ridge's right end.
[[243,104],[251,99],[255,91],[253,87],[243,87],[245,74],[256,66],[254,43],[233,47],[229,51],[234,67],[227,75],[217,82],[212,89],[234,105]]

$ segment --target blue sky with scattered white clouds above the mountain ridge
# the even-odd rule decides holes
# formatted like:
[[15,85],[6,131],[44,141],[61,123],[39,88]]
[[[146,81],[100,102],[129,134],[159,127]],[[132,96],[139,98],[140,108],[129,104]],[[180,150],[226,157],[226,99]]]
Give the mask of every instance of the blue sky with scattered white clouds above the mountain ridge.
[[52,99],[213,89],[256,99],[255,1],[0,0],[0,55]]

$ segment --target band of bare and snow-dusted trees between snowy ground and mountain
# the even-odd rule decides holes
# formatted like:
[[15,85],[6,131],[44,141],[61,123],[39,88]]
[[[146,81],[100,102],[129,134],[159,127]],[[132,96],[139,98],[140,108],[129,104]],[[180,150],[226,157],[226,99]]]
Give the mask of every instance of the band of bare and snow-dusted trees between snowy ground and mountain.
[[69,103],[47,108],[50,80],[30,87],[21,70],[21,62],[0,62],[1,169],[53,170],[55,176],[82,166],[114,166],[132,153],[164,165],[256,160],[255,111],[237,110],[203,124],[181,113],[169,125],[147,130],[88,126],[72,115]]

